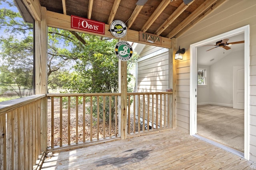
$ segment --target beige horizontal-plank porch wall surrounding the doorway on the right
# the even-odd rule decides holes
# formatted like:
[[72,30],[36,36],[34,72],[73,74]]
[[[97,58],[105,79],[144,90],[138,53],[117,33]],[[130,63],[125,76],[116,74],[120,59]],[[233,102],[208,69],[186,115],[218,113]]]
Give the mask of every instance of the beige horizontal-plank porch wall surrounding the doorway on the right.
[[[256,1],[254,0],[227,0],[224,4],[206,16],[202,21],[193,25],[186,33],[177,37],[177,45],[185,48],[186,53],[183,60],[177,62],[177,75],[190,73],[190,45],[226,33],[233,29],[250,25],[250,96],[249,114],[250,114],[250,160],[256,162]],[[182,81],[190,81],[190,78],[182,79]],[[182,86],[177,81],[177,96],[184,94],[189,88],[180,89]],[[190,93],[182,96],[179,105],[187,105]],[[177,101],[178,102],[178,101]],[[189,103],[188,103],[188,106]],[[182,111],[181,111],[182,110]],[[182,114],[188,119],[178,119],[178,115]],[[177,103],[177,129],[186,133],[190,130],[190,109],[178,108]]]

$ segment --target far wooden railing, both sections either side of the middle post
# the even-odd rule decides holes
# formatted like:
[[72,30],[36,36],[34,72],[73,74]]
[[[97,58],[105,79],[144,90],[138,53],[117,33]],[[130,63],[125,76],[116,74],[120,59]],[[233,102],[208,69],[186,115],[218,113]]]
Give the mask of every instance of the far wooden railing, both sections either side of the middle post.
[[[171,127],[172,92],[128,93],[127,133]],[[47,94],[48,150],[66,150],[118,134],[120,93]],[[111,109],[110,109],[111,108]],[[61,149],[62,148],[62,149]]]

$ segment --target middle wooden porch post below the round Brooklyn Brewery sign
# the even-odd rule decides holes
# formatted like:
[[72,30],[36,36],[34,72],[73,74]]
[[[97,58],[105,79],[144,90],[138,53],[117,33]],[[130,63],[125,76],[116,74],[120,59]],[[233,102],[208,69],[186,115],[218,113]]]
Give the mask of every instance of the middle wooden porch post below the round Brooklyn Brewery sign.
[[[120,41],[126,41],[126,37]],[[118,89],[121,96],[119,102],[119,122],[118,129],[122,139],[127,137],[127,61],[118,60]]]

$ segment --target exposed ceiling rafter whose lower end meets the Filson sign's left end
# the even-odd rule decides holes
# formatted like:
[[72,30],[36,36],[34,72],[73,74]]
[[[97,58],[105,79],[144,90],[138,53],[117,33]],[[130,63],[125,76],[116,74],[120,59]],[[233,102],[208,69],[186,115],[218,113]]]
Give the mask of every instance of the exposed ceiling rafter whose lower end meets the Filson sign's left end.
[[148,19],[148,21],[146,21],[146,23],[143,25],[142,29],[140,29],[140,31],[146,32],[148,28],[152,25],[152,23],[154,23],[158,16],[160,16],[160,14],[164,11],[166,6],[168,6],[168,4],[170,4],[170,0],[162,0],[162,2]]

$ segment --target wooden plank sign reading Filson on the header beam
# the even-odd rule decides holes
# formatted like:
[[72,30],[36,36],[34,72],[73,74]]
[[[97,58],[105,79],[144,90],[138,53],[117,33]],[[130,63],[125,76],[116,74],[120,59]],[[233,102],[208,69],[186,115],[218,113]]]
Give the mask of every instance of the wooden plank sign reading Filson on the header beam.
[[151,34],[151,33],[145,33],[142,31],[139,32],[139,41],[162,45],[162,37],[161,36]]

